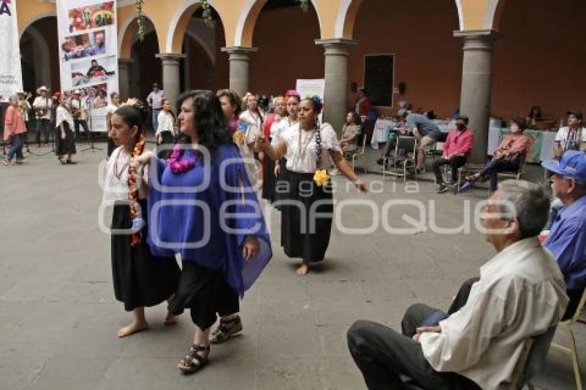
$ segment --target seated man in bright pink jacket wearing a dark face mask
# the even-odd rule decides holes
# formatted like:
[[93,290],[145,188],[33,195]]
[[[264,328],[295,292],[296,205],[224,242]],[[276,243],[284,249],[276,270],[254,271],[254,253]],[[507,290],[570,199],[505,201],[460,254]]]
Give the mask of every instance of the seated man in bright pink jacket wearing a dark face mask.
[[456,183],[458,177],[458,168],[463,167],[466,163],[467,156],[472,150],[474,144],[474,133],[468,128],[468,117],[465,115],[458,116],[456,119],[456,130],[447,134],[445,144],[443,145],[443,153],[441,158],[438,158],[432,164],[434,174],[436,175],[436,192],[443,194],[447,191],[447,185],[443,182],[441,174],[441,166],[449,164],[452,168],[452,183]]

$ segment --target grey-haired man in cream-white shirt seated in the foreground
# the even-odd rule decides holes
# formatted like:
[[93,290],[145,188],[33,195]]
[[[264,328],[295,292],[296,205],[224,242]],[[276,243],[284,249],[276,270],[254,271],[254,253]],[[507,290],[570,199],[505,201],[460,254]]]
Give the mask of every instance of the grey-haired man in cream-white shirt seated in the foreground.
[[401,376],[433,390],[509,383],[525,342],[556,325],[567,305],[556,260],[537,238],[548,209],[540,186],[504,181],[481,215],[485,238],[498,253],[481,267],[462,307],[421,327],[437,309],[414,305],[403,334],[355,322],[347,342],[368,389],[403,389]]

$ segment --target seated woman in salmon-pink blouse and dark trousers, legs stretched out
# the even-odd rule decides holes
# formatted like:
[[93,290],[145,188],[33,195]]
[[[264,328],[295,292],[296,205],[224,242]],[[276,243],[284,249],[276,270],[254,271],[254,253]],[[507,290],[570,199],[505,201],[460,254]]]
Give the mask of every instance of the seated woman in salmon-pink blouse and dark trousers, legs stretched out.
[[481,172],[466,177],[466,181],[460,187],[460,192],[469,189],[470,185],[478,179],[482,181],[490,179],[490,191],[494,192],[498,185],[499,172],[518,171],[529,147],[529,137],[523,135],[523,131],[526,128],[527,122],[525,119],[512,119],[511,134],[503,138],[501,145],[498,145],[493,152],[492,160],[483,167]]

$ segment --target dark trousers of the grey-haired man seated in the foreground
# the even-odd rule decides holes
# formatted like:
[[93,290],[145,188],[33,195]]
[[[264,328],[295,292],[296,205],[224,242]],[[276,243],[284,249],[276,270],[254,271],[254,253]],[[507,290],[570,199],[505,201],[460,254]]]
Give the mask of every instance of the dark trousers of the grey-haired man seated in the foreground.
[[[470,288],[478,278],[467,280],[449,307],[458,311],[468,299]],[[414,380],[423,389],[480,389],[472,380],[451,372],[435,371],[423,356],[421,345],[412,336],[439,310],[427,305],[412,305],[401,321],[402,333],[370,321],[357,321],[347,333],[352,358],[362,371],[368,389],[404,389],[401,375]]]

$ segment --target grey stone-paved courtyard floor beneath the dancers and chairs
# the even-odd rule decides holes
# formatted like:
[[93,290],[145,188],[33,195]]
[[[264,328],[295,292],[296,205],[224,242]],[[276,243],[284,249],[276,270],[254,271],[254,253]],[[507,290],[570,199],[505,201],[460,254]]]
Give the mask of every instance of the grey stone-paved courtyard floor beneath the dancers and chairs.
[[[345,346],[350,324],[369,319],[396,328],[414,302],[447,307],[461,281],[493,254],[474,229],[466,235],[334,229],[325,263],[301,277],[281,252],[279,214],[272,212],[274,258],[243,301],[243,336],[214,347],[201,373],[182,376],[175,366],[192,338],[189,316],[165,327],[161,305],[148,309],[150,331],[116,337],[128,314],[114,300],[109,237],[98,223],[104,154],[81,152],[72,166],[51,154],[27,154],[26,165],[0,167],[0,389],[364,389]],[[336,201],[369,199],[378,215],[385,202],[410,198],[426,205],[427,216],[433,209],[438,226],[457,227],[466,202],[474,207],[486,196],[485,189],[436,195],[430,181],[414,194],[390,179],[373,189],[368,196],[340,191]],[[372,214],[346,204],[336,220],[367,227]],[[406,228],[405,216],[417,219],[418,211],[392,207],[387,215],[392,227]],[[578,329],[582,351],[585,334]],[[551,351],[536,384],[574,389],[569,360]]]

